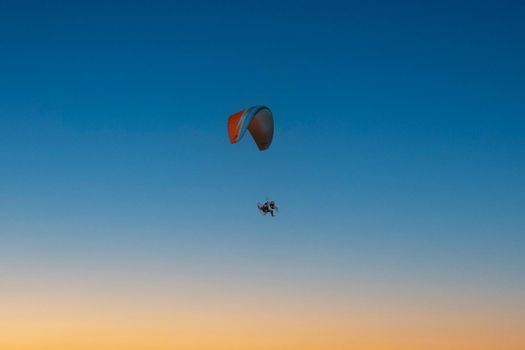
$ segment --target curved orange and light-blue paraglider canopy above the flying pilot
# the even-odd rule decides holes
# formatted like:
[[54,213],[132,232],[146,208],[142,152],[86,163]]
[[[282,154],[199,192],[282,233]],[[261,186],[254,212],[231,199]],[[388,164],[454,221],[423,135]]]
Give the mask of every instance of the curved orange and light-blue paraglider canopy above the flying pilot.
[[273,116],[270,109],[265,106],[253,106],[228,118],[228,136],[231,143],[242,139],[246,130],[250,131],[260,151],[268,149],[273,139]]

